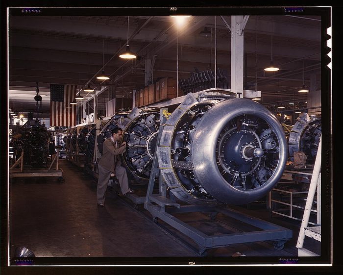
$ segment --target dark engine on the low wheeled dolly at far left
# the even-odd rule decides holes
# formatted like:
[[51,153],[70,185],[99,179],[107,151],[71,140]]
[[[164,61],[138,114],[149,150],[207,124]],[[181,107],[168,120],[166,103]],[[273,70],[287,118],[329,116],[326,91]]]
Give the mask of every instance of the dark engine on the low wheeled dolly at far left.
[[38,120],[28,120],[12,138],[16,159],[24,150],[24,165],[35,168],[47,166],[50,136]]

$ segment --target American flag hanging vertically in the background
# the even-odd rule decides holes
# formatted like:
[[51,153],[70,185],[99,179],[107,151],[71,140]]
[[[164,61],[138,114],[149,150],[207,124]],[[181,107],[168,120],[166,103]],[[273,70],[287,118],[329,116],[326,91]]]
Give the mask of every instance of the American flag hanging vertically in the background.
[[50,126],[75,126],[76,85],[50,84]]

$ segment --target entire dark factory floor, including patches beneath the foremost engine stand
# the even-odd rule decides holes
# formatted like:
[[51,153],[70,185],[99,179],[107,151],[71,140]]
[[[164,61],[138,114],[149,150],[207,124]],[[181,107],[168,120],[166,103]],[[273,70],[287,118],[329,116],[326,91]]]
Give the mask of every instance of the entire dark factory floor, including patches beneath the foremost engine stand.
[[[136,210],[127,200],[107,192],[106,206],[98,207],[97,181],[66,160],[61,160],[60,166],[66,179],[63,183],[54,177],[11,179],[11,256],[16,247],[29,248],[36,257],[198,256],[185,245],[192,245],[188,237],[163,222],[160,224],[165,229],[161,229],[142,205]],[[256,242],[210,249],[207,256],[231,257],[237,252],[246,256],[297,256],[298,222],[282,217],[270,219],[266,208],[235,208],[293,229],[294,238],[283,250],[275,250],[270,242]],[[202,213],[180,215],[189,224],[214,234],[239,226],[230,225],[221,214],[216,221]],[[97,263],[100,259],[92,261]]]

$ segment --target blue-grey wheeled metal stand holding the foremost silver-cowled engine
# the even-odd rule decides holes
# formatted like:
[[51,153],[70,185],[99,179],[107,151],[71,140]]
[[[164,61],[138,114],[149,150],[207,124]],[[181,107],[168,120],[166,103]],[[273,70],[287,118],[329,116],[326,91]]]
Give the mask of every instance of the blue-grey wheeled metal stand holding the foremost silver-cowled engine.
[[[161,109],[161,124],[156,147],[159,146],[161,133],[167,120],[163,115],[163,111],[164,109]],[[159,194],[153,194],[153,187],[157,179],[159,182]],[[219,206],[180,205],[178,202],[171,200],[167,197],[167,184],[163,181],[162,176],[160,176],[157,157],[153,159],[144,208],[150,212],[155,223],[158,223],[158,219],[161,219],[195,241],[199,247],[198,253],[200,256],[205,256],[208,249],[258,241],[272,241],[274,248],[281,250],[284,244],[292,238],[293,234],[291,229],[274,225],[233,209]],[[222,234],[221,236],[208,235],[194,226],[186,224],[174,215],[192,212],[210,213],[210,217],[213,219],[215,219],[218,213],[222,213],[228,218],[236,219],[246,225],[255,226],[260,230],[228,233]]]

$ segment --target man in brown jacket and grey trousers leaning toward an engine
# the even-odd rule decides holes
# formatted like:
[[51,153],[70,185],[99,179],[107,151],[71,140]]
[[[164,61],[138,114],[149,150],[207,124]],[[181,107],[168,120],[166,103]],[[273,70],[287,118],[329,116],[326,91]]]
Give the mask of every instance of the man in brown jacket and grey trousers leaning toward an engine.
[[126,142],[119,144],[123,136],[122,128],[113,128],[112,136],[103,143],[102,156],[98,162],[98,206],[104,206],[105,194],[111,174],[114,173],[119,181],[123,195],[133,193],[128,187],[126,169],[123,167],[119,155],[126,150]]

